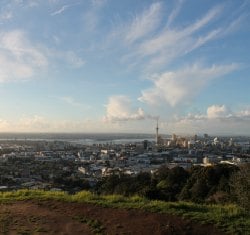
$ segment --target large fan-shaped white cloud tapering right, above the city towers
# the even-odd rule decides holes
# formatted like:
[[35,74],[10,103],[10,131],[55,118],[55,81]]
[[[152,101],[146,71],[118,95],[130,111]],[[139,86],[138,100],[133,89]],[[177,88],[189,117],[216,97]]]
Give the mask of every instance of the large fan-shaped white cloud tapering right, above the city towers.
[[192,100],[212,79],[236,70],[239,66],[213,65],[204,68],[198,64],[177,71],[169,71],[151,78],[153,87],[142,91],[140,101],[149,104],[162,102],[175,106]]

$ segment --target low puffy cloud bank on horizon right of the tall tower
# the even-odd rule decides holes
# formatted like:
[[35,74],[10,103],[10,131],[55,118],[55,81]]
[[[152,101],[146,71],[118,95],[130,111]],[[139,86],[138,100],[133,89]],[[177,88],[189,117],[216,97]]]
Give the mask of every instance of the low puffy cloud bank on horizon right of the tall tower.
[[249,135],[250,109],[230,111],[225,105],[211,105],[205,114],[188,114],[163,124],[166,132]]

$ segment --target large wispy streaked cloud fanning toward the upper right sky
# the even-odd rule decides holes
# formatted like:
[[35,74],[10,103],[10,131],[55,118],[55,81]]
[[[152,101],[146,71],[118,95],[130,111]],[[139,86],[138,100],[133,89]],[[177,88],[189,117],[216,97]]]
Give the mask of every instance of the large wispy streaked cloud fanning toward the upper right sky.
[[166,23],[166,16],[162,14],[164,5],[154,3],[138,13],[129,24],[116,25],[107,41],[110,47],[115,43],[122,47],[120,62],[130,69],[140,69],[144,74],[161,71],[204,45],[225,37],[243,21],[237,14],[233,19],[221,20],[225,6],[216,5],[192,22],[172,25],[184,2],[176,4]]

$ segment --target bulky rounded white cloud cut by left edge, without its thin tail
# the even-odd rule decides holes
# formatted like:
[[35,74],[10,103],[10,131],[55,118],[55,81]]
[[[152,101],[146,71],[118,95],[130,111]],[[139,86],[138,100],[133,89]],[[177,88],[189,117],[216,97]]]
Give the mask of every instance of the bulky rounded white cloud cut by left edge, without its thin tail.
[[0,33],[0,82],[27,80],[48,61],[20,30]]

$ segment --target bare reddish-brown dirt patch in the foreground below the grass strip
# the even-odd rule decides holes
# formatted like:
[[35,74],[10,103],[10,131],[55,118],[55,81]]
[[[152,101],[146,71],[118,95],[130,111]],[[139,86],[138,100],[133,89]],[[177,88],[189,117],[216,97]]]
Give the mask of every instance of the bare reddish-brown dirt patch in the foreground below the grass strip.
[[0,234],[222,235],[177,216],[59,201],[1,204]]

